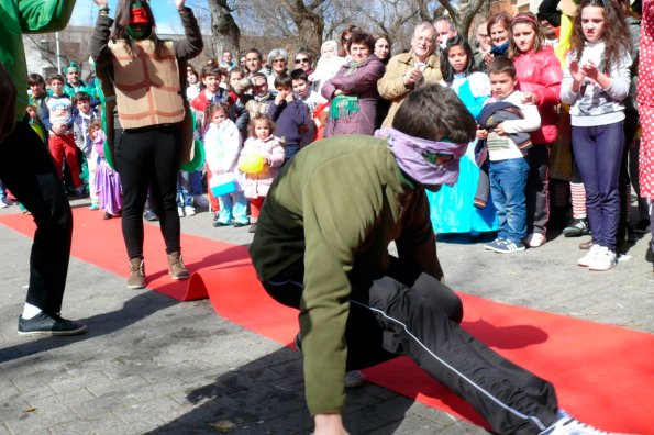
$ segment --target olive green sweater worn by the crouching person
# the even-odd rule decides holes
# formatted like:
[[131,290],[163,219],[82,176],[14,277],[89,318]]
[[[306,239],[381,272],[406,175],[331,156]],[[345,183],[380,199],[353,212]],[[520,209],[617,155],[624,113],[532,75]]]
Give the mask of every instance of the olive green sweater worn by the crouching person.
[[343,408],[348,272],[384,271],[388,245],[441,277],[424,190],[402,177],[385,140],[342,135],[302,149],[273,183],[250,247],[259,279],[304,264],[300,331],[312,414]]

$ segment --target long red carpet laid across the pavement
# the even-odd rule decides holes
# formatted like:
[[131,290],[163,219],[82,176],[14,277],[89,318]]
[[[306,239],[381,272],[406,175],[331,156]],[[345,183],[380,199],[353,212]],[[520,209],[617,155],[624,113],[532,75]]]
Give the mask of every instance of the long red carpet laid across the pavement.
[[[120,220],[102,221],[99,213],[81,209],[74,213],[73,255],[126,276]],[[0,216],[0,223],[29,236],[34,228],[23,215]],[[190,281],[171,282],[158,228],[145,228],[148,288],[178,300],[209,293],[221,316],[279,343],[292,342],[297,313],[265,294],[244,247],[185,234],[185,263],[190,270],[201,270]],[[552,381],[562,408],[606,431],[654,433],[654,335],[459,295],[466,310],[463,326]],[[465,402],[407,358],[366,375],[379,386],[484,424]]]

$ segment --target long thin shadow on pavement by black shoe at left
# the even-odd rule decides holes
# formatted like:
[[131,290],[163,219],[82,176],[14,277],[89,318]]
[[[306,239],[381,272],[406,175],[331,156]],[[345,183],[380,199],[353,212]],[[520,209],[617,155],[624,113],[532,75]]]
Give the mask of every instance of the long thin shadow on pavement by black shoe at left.
[[97,314],[78,321],[88,326],[88,331],[75,336],[47,336],[44,338],[24,338],[25,343],[0,348],[0,362],[7,362],[24,356],[47,352],[74,343],[112,334],[134,324],[151,314],[178,303],[163,294],[146,291],[124,302],[122,309]]

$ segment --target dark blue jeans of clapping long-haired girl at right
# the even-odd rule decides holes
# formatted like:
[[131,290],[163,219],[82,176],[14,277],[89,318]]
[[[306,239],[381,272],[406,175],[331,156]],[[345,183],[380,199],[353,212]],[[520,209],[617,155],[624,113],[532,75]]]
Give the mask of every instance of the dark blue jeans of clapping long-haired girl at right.
[[584,187],[592,243],[616,250],[620,221],[618,188],[624,148],[623,122],[573,126],[573,153]]

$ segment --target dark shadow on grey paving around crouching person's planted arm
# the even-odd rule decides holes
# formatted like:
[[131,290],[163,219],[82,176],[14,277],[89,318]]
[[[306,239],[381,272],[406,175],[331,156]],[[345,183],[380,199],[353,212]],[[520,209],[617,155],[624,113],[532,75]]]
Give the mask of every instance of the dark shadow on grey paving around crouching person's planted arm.
[[[304,402],[302,379],[300,354],[282,347],[189,391],[186,400],[201,405],[148,434],[311,433],[313,419]],[[372,383],[348,389],[343,412],[345,426],[356,434],[395,433],[413,403],[409,398],[396,398]],[[392,401],[392,406],[385,405],[388,401]]]

